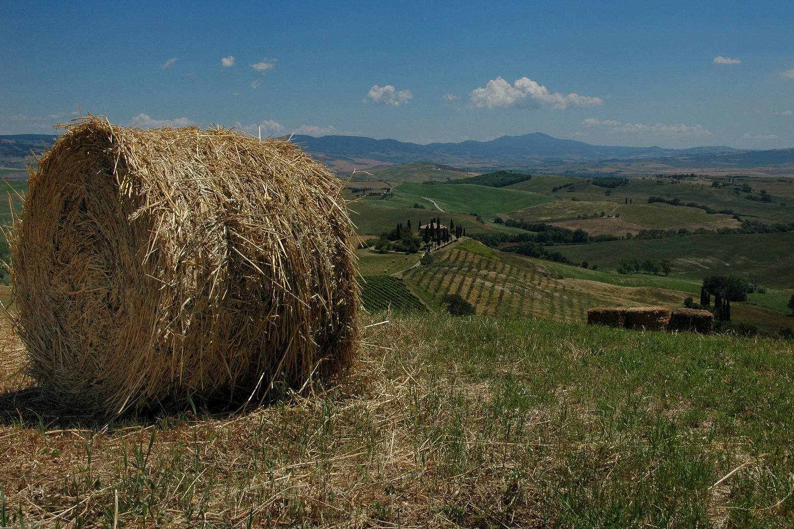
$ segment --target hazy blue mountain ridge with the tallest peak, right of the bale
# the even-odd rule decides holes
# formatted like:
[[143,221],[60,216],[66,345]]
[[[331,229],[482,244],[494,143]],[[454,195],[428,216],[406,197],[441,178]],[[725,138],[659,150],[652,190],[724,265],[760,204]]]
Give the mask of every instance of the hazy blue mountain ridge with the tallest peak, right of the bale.
[[462,141],[458,144],[411,144],[397,140],[373,140],[362,136],[293,136],[312,155],[326,162],[362,164],[412,163],[427,160],[461,167],[507,167],[554,165],[603,159],[653,159],[677,155],[714,155],[738,149],[696,147],[611,147],[582,141],[559,140],[542,132],[524,136],[501,136],[491,141]]

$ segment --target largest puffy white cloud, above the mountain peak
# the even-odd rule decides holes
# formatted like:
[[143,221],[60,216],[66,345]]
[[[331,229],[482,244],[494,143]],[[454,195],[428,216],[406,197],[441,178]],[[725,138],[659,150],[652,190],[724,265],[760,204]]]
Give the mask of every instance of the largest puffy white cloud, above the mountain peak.
[[476,88],[469,94],[469,104],[477,108],[513,108],[552,105],[553,109],[565,109],[569,105],[603,105],[603,99],[579,94],[551,93],[545,86],[532,79],[522,77],[511,84],[501,77],[491,79],[485,88]]

